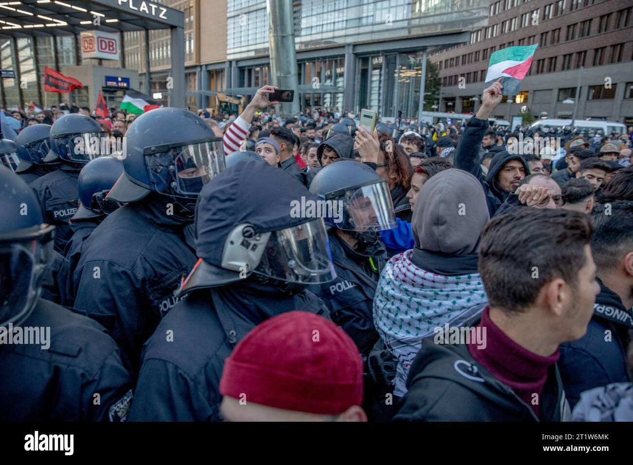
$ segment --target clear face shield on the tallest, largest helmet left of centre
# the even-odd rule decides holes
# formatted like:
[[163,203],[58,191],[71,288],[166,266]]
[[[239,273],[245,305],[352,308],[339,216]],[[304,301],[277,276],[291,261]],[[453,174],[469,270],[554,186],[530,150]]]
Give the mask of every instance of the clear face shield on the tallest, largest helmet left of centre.
[[158,191],[188,199],[196,198],[204,184],[224,171],[224,158],[219,138],[146,154],[147,167]]

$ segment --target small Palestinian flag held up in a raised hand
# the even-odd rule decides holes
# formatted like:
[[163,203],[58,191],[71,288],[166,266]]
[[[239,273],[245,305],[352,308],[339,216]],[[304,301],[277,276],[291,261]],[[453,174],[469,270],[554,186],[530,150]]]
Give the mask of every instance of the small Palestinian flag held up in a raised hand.
[[534,52],[538,46],[539,44],[508,47],[491,53],[484,89],[501,78],[503,95],[517,95],[521,87],[521,80],[530,70]]

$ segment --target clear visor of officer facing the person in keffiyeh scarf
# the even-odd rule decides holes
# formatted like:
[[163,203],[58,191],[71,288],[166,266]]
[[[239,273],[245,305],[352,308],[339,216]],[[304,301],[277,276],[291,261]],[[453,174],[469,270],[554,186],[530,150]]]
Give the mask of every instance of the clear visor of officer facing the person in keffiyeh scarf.
[[365,232],[396,227],[396,215],[386,182],[346,190],[341,202],[346,221],[337,225],[340,229]]

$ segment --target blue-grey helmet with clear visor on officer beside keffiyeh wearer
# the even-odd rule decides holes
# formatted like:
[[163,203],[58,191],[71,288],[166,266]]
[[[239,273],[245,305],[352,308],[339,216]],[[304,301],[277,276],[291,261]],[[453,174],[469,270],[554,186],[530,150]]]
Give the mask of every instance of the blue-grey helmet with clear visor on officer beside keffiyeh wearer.
[[316,173],[310,192],[332,211],[324,218],[332,228],[365,233],[396,226],[387,181],[360,161],[338,159],[325,166]]

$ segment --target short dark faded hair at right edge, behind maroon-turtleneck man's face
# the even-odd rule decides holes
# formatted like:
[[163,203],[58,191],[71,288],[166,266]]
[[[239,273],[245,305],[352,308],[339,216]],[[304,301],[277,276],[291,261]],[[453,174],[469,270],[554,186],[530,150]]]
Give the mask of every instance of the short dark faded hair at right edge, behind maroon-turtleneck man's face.
[[[609,208],[609,214],[606,209]],[[591,212],[594,235],[591,253],[598,271],[610,271],[619,266],[622,258],[633,251],[633,202],[615,201],[598,205]]]

